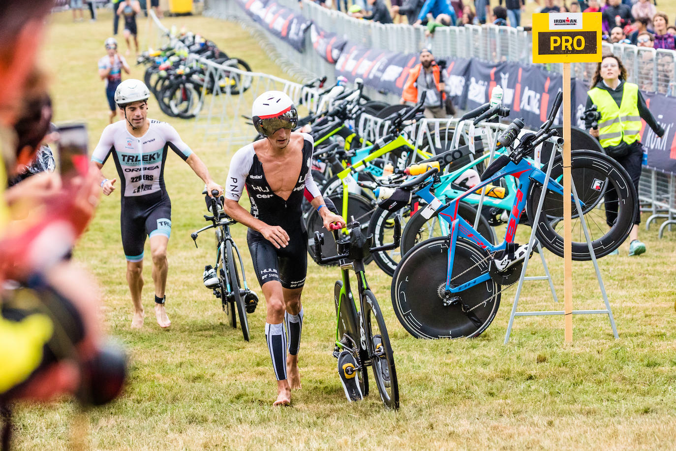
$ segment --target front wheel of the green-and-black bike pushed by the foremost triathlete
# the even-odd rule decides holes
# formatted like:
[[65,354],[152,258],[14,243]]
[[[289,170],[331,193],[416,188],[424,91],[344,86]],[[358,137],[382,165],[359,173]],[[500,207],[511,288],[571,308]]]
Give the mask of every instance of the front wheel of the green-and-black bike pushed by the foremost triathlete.
[[366,348],[373,370],[373,378],[381,395],[381,400],[388,408],[399,408],[399,383],[394,366],[394,355],[387,335],[385,320],[375,295],[367,289],[364,295],[364,327]]

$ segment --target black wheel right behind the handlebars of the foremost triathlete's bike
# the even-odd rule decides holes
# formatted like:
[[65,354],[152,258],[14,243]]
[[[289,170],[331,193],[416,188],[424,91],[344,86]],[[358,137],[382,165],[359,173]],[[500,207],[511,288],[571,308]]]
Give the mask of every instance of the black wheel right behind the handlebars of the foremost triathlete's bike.
[[[343,195],[332,195],[329,196],[329,199],[333,201],[333,204],[336,206],[338,209],[339,214],[342,214],[342,208],[343,208]],[[375,210],[375,207],[372,206],[370,199],[349,193],[349,197],[347,197],[347,215],[345,215],[345,221],[347,223],[352,221],[352,218],[354,217],[354,220],[359,221],[360,223],[360,229],[362,230],[362,233],[366,235],[366,230],[368,229],[368,222],[370,220],[372,212]],[[310,256],[314,259],[314,232],[315,231],[320,231],[324,233],[324,244],[322,245],[322,257],[323,258],[328,258],[328,257],[333,257],[338,254],[336,250],[336,242],[335,239],[333,239],[333,233],[327,232],[326,229],[324,229],[324,221],[322,220],[322,217],[319,215],[317,210],[313,210],[308,218],[306,219],[306,229],[308,231],[308,235],[312,238],[308,239],[308,252],[310,253]],[[341,231],[338,231],[339,235],[343,235]],[[341,236],[341,238],[343,238]],[[368,258],[364,260],[364,263],[368,263],[371,259]],[[337,262],[333,264],[338,264]]]

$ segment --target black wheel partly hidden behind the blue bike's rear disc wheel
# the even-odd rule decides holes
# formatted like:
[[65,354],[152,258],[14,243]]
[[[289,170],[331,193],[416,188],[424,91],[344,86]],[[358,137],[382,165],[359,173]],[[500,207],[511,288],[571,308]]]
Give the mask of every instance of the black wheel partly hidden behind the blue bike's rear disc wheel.
[[[474,226],[474,220],[477,217],[477,209],[464,201],[460,201],[458,204],[458,216]],[[423,208],[420,208],[413,216],[411,216],[410,220],[406,222],[406,227],[403,229],[401,245],[402,255],[405,255],[414,245],[425,241],[426,239],[448,235],[449,229],[450,224],[443,220],[438,212],[435,212],[435,214],[427,219],[423,216]],[[477,231],[481,233],[481,236],[487,241],[490,241],[492,244],[496,243],[496,233],[483,215],[479,217]]]

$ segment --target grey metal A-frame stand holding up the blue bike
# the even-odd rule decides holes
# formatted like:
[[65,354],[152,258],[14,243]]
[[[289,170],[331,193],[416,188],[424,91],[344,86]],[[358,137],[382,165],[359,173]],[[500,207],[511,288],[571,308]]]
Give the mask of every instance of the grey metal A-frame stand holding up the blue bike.
[[[550,156],[550,164],[547,167],[547,176],[545,179],[544,186],[542,187],[542,193],[540,195],[539,202],[537,204],[537,213],[535,213],[535,218],[533,218],[533,230],[531,231],[531,237],[529,239],[528,243],[528,251],[527,255],[530,255],[531,249],[533,248],[533,242],[535,241],[535,230],[537,229],[537,223],[540,218],[540,213],[542,211],[542,204],[544,204],[544,199],[545,199],[545,194],[547,193],[547,185],[550,180],[550,173],[552,172],[552,164],[554,163],[554,156],[556,155],[556,152],[553,151],[552,155]],[[572,179],[572,175],[571,175]],[[587,239],[587,247],[589,247],[589,253],[592,256],[592,262],[594,262],[594,269],[596,270],[596,279],[598,279],[598,285],[599,288],[601,289],[601,295],[603,296],[603,301],[606,304],[605,310],[573,310],[573,314],[607,314],[608,319],[610,320],[610,327],[612,329],[612,334],[614,337],[617,339],[619,338],[619,335],[617,335],[617,327],[615,325],[615,320],[614,317],[612,316],[612,310],[610,310],[610,302],[608,302],[608,295],[606,294],[606,287],[603,283],[603,279],[601,277],[601,271],[598,268],[598,262],[596,261],[596,254],[594,253],[594,247],[592,247],[592,240],[589,238],[589,231],[587,230],[587,222],[585,220],[584,215],[582,214],[582,209],[580,207],[580,199],[577,197],[577,189],[575,189],[575,183],[571,183],[571,191],[573,191],[573,198],[575,199],[575,208],[577,208],[577,214],[579,215],[579,218],[581,219],[581,224],[582,224],[582,229],[585,233],[585,239]],[[544,311],[533,311],[533,312],[518,312],[516,310],[518,306],[518,298],[519,295],[521,295],[521,288],[523,287],[523,281],[525,280],[543,280],[543,279],[549,279],[550,282],[550,287],[552,289],[552,296],[554,297],[554,301],[558,302],[556,298],[556,291],[554,290],[554,284],[552,283],[552,277],[550,275],[550,272],[547,268],[547,265],[545,263],[544,255],[542,254],[542,248],[540,247],[540,244],[537,243],[537,248],[538,251],[540,252],[540,258],[544,264],[545,267],[545,272],[546,276],[540,276],[540,277],[526,277],[526,269],[528,268],[528,261],[530,258],[525,259],[525,262],[523,263],[523,268],[521,269],[521,277],[519,278],[518,281],[518,286],[516,287],[516,295],[514,295],[514,304],[512,304],[512,312],[510,313],[509,317],[509,323],[507,325],[507,332],[505,334],[505,339],[504,339],[504,344],[507,344],[509,341],[510,334],[512,333],[512,325],[514,324],[514,318],[516,316],[541,316],[541,315],[563,315],[565,314],[564,310],[544,310]]]

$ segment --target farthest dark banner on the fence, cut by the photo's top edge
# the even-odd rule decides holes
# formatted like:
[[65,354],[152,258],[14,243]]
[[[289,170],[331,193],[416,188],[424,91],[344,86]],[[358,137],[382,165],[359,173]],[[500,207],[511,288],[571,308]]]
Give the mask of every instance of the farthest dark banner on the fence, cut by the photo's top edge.
[[299,52],[305,47],[305,33],[312,23],[303,15],[282,7],[274,0],[237,0],[256,22]]

